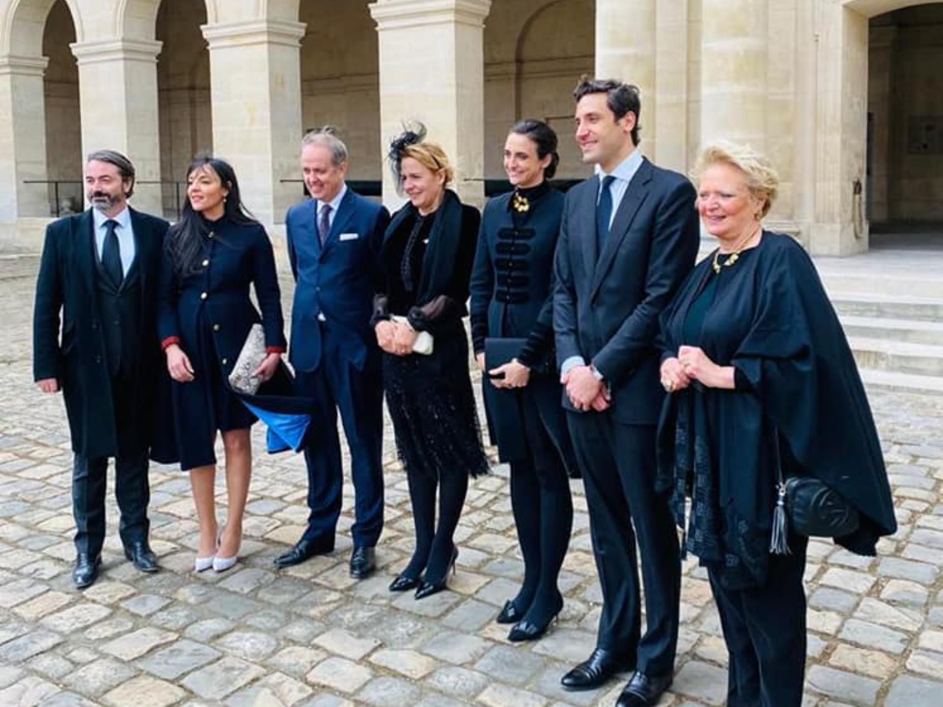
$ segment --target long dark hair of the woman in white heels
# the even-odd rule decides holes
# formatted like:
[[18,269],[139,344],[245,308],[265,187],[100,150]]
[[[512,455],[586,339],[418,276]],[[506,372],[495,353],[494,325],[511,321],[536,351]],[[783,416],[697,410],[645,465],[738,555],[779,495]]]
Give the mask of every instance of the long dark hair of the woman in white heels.
[[[190,176],[193,173],[209,169],[216,173],[229,193],[223,199],[223,219],[234,223],[257,223],[248,209],[242,205],[239,181],[232,166],[219,157],[211,155],[197,155],[187,167],[187,184],[190,185]],[[207,222],[203,215],[193,210],[190,198],[184,199],[180,221],[174,223],[167,232],[164,241],[167,254],[174,263],[174,272],[178,277],[186,277],[202,271],[200,264],[203,260],[203,238],[211,229],[211,222]],[[219,242],[225,245],[223,238]]]

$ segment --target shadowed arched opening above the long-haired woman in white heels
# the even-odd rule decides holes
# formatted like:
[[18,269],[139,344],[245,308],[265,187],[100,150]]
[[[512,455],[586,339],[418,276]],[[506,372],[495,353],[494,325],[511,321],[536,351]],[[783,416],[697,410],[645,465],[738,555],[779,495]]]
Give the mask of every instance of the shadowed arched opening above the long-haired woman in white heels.
[[209,52],[200,31],[206,23],[202,1],[163,0],[157,11],[161,201],[171,219],[186,198],[187,165],[213,149]]

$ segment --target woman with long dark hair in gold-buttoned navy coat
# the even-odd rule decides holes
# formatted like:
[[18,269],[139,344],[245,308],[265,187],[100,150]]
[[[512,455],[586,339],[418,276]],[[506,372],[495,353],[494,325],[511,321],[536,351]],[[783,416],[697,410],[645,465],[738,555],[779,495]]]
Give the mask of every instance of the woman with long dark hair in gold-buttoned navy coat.
[[[236,174],[226,162],[197,157],[187,170],[187,203],[164,243],[157,329],[174,379],[174,436],[180,468],[200,523],[194,569],[223,571],[236,564],[249,493],[256,417],[229,387],[228,376],[252,325],[265,329],[263,381],[285,351],[284,321],[272,243],[241,204]],[[261,316],[249,299],[256,289]],[[216,523],[217,431],[225,450],[227,518]]]

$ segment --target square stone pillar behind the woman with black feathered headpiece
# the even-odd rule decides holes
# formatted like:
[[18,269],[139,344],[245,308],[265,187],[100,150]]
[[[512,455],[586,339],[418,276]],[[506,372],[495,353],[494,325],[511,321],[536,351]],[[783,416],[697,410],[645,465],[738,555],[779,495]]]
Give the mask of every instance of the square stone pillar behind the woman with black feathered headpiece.
[[[484,201],[484,26],[490,0],[377,0],[384,152],[404,121],[422,121],[455,164],[455,190]],[[388,206],[402,199],[384,171]]]

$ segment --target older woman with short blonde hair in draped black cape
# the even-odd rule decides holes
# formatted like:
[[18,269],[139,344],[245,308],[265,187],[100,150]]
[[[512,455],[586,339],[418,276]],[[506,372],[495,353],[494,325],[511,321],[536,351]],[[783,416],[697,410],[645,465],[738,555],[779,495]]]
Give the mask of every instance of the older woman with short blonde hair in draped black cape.
[[[659,485],[707,567],[730,652],[727,704],[799,707],[808,538],[772,542],[777,480],[818,478],[860,512],[835,541],[873,555],[896,530],[881,447],[852,352],[809,256],[763,229],[777,177],[719,144],[695,169],[720,248],[661,318]],[[691,498],[689,518],[685,499]],[[781,553],[774,553],[778,550]]]

